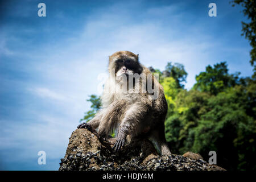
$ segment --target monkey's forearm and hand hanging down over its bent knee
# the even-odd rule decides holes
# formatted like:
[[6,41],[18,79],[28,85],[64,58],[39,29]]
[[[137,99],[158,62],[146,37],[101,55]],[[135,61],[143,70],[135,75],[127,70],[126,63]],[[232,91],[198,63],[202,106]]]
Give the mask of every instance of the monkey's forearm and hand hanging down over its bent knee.
[[117,134],[117,140],[113,146],[115,152],[118,152],[125,144],[126,136],[128,134],[137,135],[141,133],[140,122],[146,116],[146,107],[143,104],[134,104],[126,111]]

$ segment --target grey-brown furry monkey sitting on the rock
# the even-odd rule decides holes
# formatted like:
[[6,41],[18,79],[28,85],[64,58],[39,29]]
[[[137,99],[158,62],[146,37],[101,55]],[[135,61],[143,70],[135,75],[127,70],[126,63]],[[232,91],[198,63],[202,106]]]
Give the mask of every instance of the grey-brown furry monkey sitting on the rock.
[[165,137],[168,105],[162,85],[140,63],[139,55],[130,51],[109,56],[108,70],[110,75],[101,96],[102,108],[93,119],[77,128],[93,131],[101,141],[109,142],[113,142],[108,136],[115,130],[112,147],[115,152],[121,150],[127,140],[144,136],[155,144],[160,154],[171,155]]

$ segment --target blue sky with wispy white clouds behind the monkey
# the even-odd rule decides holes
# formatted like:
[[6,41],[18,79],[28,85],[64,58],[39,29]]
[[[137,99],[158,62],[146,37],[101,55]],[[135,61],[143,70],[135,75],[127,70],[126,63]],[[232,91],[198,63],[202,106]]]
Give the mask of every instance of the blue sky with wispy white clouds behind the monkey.
[[[46,17],[38,16],[40,2]],[[211,2],[217,17],[208,16]],[[241,10],[229,1],[1,1],[0,169],[59,168],[115,51],[139,53],[161,70],[184,64],[187,89],[220,61],[252,75]],[[37,162],[42,150],[46,165]]]

